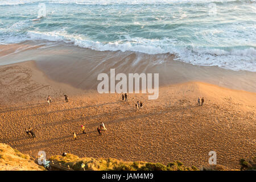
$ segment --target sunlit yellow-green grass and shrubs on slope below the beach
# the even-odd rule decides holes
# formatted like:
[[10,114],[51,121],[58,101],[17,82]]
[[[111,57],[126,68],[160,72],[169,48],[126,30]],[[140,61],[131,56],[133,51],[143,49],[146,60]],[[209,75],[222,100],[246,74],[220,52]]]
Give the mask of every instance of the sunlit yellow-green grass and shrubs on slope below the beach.
[[[198,171],[195,166],[187,167],[180,161],[168,163],[167,165],[161,163],[148,162],[123,162],[118,159],[94,159],[94,158],[79,158],[73,154],[66,156],[55,155],[51,156],[55,164],[61,166],[71,167],[76,171]],[[255,170],[256,157],[245,160],[241,159],[241,170]],[[84,163],[84,169],[81,164]],[[0,170],[7,171],[41,171],[44,167],[36,164],[29,155],[22,154],[18,150],[11,148],[7,144],[0,143]],[[211,165],[200,168],[201,171],[228,171],[229,168],[222,165]],[[231,169],[238,170],[238,169]]]

